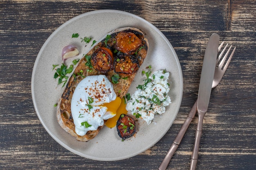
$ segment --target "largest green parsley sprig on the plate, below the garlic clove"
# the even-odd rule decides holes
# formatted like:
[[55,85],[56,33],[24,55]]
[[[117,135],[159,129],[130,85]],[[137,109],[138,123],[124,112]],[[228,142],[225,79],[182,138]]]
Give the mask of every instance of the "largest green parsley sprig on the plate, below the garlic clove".
[[[56,65],[53,65],[53,67],[54,66],[56,67]],[[70,65],[70,67],[67,68],[67,66],[62,63],[61,67],[56,69],[56,72],[54,74],[54,79],[58,78],[58,84],[63,83],[62,87],[64,87],[68,79],[67,74],[71,73],[72,71],[73,71],[73,65]]]

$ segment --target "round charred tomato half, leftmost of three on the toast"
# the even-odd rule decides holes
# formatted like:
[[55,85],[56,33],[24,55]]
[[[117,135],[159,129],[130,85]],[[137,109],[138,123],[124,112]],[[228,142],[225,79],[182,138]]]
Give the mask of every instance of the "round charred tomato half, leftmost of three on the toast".
[[113,53],[110,49],[100,47],[92,53],[91,56],[92,66],[101,73],[107,73],[113,70]]

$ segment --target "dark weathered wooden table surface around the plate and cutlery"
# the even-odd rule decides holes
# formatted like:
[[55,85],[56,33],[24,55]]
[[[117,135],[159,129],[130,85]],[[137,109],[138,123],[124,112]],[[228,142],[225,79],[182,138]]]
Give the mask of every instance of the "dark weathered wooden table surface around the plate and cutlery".
[[[183,98],[166,135],[145,152],[95,161],[63,148],[40,123],[31,74],[40,48],[61,24],[99,9],[127,11],[168,38],[180,60]],[[198,170],[256,169],[255,0],[2,0],[0,2],[0,169],[156,170],[198,95],[202,60],[212,33],[236,46],[204,117]],[[168,170],[189,169],[197,115]]]

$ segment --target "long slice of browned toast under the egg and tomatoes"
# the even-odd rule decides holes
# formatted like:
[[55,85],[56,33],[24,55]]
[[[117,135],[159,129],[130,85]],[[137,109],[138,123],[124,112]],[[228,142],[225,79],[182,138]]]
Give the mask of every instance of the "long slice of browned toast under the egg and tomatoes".
[[[141,66],[144,59],[146,58],[146,54],[148,51],[148,40],[144,37],[144,33],[142,31],[136,28],[131,28],[131,27],[116,29],[108,33],[108,35],[110,35],[109,40],[108,38],[106,38],[107,37],[106,35],[103,38],[103,40],[101,40],[98,44],[94,45],[94,47],[86,54],[86,56],[91,56],[94,53],[94,51],[104,46],[112,51],[112,53],[114,54],[114,60],[116,62],[119,61],[119,59],[116,59],[116,57],[120,53],[122,54],[122,52],[117,51],[115,44],[116,44],[117,34],[122,32],[134,33],[141,40],[141,43],[142,43],[141,46],[143,48],[140,47],[139,49],[136,49],[135,53],[133,52],[133,54],[131,55],[129,54],[130,57],[136,58],[138,67]],[[79,84],[79,82],[86,76],[100,75],[100,74],[106,75],[109,81],[112,82],[112,76],[117,74],[114,68],[106,73],[102,73],[100,71],[97,71],[94,68],[91,68],[90,66],[88,66],[88,64],[86,64],[88,62],[86,59],[86,56],[83,56],[79,61],[79,63],[76,65],[76,68],[74,69],[72,76],[70,76],[67,82],[67,85],[64,89],[64,92],[58,101],[58,106],[57,106],[58,123],[61,125],[61,127],[65,131],[69,132],[72,136],[76,137],[76,139],[79,141],[88,141],[90,139],[93,139],[99,133],[99,130],[103,126],[99,126],[97,130],[88,131],[84,136],[79,136],[76,134],[75,125],[74,125],[74,121],[71,113],[71,99],[77,84]],[[124,95],[126,95],[136,75],[136,72],[137,70],[134,73],[130,73],[128,75],[119,74],[119,77],[126,77],[126,78],[119,79],[119,82],[117,84],[112,83],[115,93],[117,94],[118,97],[122,98],[124,97]]]

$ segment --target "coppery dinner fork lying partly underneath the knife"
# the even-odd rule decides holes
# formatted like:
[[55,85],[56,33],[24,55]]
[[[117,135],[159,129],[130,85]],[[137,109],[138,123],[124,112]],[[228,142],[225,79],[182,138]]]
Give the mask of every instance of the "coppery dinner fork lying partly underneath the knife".
[[[220,44],[220,46],[218,47],[218,52],[220,52],[222,46],[224,44],[224,41]],[[213,77],[213,84],[211,86],[211,88],[215,88],[220,80],[222,79],[225,71],[227,70],[227,66],[229,65],[229,62],[232,58],[232,56],[234,55],[234,52],[236,50],[236,47],[234,47],[231,55],[229,56],[224,68],[222,69],[227,56],[229,55],[229,52],[231,50],[231,47],[229,47],[227,53],[225,54],[225,56],[222,58],[222,60],[220,61],[222,55],[225,53],[226,49],[227,49],[228,44],[224,47],[224,49],[222,50],[222,52],[220,53],[220,55],[218,56],[217,60],[216,60],[216,68],[215,68],[215,72],[214,72],[214,77]],[[220,63],[219,63],[220,61]],[[197,111],[197,103],[198,100],[195,101],[195,104],[193,105],[193,107],[191,108],[191,111],[189,112],[189,115],[186,117],[186,120],[184,121],[184,124],[182,125],[178,135],[176,136],[176,138],[173,141],[173,144],[171,145],[169,151],[167,152],[167,155],[165,156],[164,160],[162,161],[161,165],[159,166],[159,170],[166,170],[169,162],[171,161],[171,158],[173,157],[174,152],[177,150],[178,146],[180,145],[180,142],[182,140],[182,138],[184,137],[186,130],[189,127],[189,124],[191,123],[192,119],[195,117],[195,113]],[[197,152],[198,154],[198,152]],[[196,159],[198,158],[198,155],[194,155],[196,157]]]

